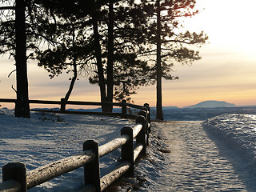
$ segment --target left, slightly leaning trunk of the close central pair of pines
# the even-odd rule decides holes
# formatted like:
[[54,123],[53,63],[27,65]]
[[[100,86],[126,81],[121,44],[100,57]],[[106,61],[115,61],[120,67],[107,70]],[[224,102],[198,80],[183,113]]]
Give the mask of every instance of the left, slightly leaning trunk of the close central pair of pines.
[[[100,88],[101,94],[101,102],[106,102],[106,86],[105,86],[105,79],[104,79],[104,72],[102,66],[102,48],[100,44],[100,36],[98,34],[98,19],[97,19],[97,12],[98,12],[98,1],[95,2],[94,5],[94,13],[92,14],[92,22],[94,27],[94,50],[98,68],[98,85]],[[102,105],[102,112],[106,112],[106,106]]]

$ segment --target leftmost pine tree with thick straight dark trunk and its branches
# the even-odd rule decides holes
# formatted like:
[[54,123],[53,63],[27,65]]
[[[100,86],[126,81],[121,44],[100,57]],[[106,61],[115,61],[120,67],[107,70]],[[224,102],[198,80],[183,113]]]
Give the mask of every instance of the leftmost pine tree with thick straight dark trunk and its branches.
[[[34,0],[2,0],[0,17],[0,54],[10,54],[16,66],[16,95],[15,116],[30,118],[28,97],[27,65],[26,60],[33,55],[34,50],[42,40],[50,40],[50,33],[42,35],[46,30],[50,14]],[[28,51],[29,50],[29,51]],[[30,53],[27,55],[27,53]]]

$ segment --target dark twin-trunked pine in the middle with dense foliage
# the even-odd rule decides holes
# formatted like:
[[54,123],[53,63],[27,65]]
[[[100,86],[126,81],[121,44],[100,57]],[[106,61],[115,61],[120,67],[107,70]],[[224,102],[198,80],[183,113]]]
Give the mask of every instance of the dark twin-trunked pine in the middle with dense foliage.
[[[138,77],[145,76],[146,69],[146,62],[140,62],[136,57],[138,51],[142,49],[140,44],[143,42],[141,38],[144,36],[141,26],[145,22],[142,22],[143,12],[140,7],[135,6],[133,1],[127,0],[88,2],[47,0],[46,2],[57,18],[63,18],[66,21],[66,18],[72,15],[73,23],[83,23],[78,28],[81,31],[86,31],[87,34],[84,35],[86,38],[83,41],[89,39],[88,42],[91,42],[90,47],[93,47],[93,50],[87,51],[90,57],[85,54],[82,56],[90,58],[90,63],[95,63],[97,66],[96,74],[90,78],[90,82],[98,83],[101,101],[112,102],[113,98],[119,101],[134,94],[134,90],[131,88],[145,82],[144,78]],[[42,1],[42,3],[46,2]],[[87,7],[90,7],[90,10],[87,10]],[[64,14],[66,12],[70,14]],[[62,26],[62,19],[58,20],[60,20],[58,25]],[[72,23],[70,22],[69,25]],[[63,30],[65,31],[65,29]],[[58,30],[56,33],[56,36],[59,37]],[[63,32],[62,34],[66,35]],[[59,38],[58,42],[60,42]],[[87,48],[85,47],[85,49]],[[44,58],[43,56],[39,57]],[[47,58],[51,59],[52,57]],[[48,67],[49,64],[47,63],[46,66]],[[60,68],[57,69],[60,70]],[[52,72],[56,71],[52,70]],[[121,87],[123,88],[122,92],[119,91]],[[106,105],[102,106],[102,110],[111,111],[112,108]]]

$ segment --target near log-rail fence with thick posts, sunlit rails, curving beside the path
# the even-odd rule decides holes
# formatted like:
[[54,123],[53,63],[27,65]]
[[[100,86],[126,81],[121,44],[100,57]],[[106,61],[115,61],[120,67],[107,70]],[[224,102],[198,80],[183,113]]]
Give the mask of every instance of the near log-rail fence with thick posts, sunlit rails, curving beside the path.
[[[38,167],[26,173],[26,165],[21,162],[10,162],[2,167],[0,191],[27,191],[71,170],[84,166],[84,183],[82,191],[102,191],[122,175],[134,176],[134,162],[138,157],[145,157],[150,134],[150,108],[140,110],[134,127],[125,126],[121,136],[98,146],[98,142],[88,140],[83,144],[81,154],[63,158],[46,166]],[[109,174],[101,178],[99,158],[121,147],[122,161]]]

